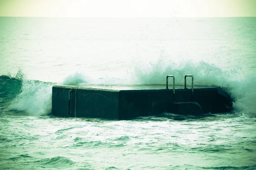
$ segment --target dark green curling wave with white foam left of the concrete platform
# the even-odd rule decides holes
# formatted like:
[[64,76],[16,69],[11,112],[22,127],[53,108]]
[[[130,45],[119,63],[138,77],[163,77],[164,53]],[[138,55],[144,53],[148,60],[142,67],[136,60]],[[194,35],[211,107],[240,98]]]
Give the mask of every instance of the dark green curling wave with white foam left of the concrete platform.
[[[57,83],[27,80],[21,71],[15,77],[0,76],[0,110],[50,114],[52,109],[52,86]],[[20,111],[20,112],[19,112]]]

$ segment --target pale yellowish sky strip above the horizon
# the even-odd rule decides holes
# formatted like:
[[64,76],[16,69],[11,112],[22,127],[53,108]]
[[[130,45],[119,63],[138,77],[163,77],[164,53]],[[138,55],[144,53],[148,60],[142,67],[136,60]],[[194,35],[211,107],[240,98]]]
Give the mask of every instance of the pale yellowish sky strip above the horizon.
[[256,0],[0,0],[8,17],[256,17]]

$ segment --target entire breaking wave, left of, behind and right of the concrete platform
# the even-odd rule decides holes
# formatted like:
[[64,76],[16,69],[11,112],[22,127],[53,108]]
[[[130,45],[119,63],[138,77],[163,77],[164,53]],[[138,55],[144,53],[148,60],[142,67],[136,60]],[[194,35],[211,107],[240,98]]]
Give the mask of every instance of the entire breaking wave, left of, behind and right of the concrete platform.
[[[233,107],[238,113],[256,116],[255,75],[225,70],[207,62],[160,59],[155,62],[136,60],[131,71],[119,77],[93,78],[82,72],[67,76],[62,83],[27,80],[21,71],[15,77],[0,76],[0,108],[8,105],[10,110],[25,111],[33,115],[51,113],[53,85],[165,85],[166,75],[175,75],[175,84],[184,84],[184,75],[192,74],[195,85],[221,86],[233,98]],[[239,69],[237,69],[239,70]],[[239,77],[237,79],[237,77]],[[187,82],[188,85],[191,83]]]

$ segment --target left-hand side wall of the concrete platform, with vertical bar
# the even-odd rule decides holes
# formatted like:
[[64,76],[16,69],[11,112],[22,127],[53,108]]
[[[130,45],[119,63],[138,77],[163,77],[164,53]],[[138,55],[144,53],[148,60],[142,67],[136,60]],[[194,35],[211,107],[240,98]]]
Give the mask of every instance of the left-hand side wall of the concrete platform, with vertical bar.
[[52,115],[70,117],[119,119],[119,91],[81,88],[73,86],[52,87]]

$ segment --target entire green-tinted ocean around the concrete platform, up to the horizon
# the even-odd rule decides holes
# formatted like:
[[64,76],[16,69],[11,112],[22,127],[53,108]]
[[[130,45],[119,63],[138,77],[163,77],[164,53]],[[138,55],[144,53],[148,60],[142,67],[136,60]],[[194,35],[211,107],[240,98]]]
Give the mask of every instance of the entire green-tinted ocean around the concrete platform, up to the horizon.
[[[51,116],[53,85],[164,85],[167,74],[226,88],[234,111]],[[0,169],[255,170],[255,86],[256,17],[0,17]]]

